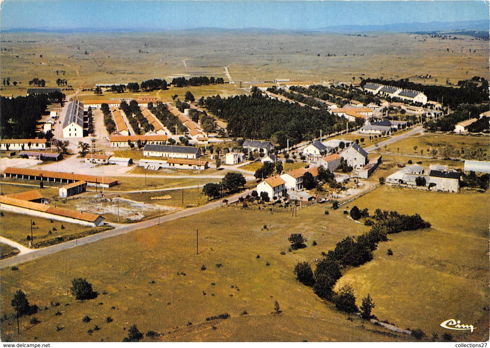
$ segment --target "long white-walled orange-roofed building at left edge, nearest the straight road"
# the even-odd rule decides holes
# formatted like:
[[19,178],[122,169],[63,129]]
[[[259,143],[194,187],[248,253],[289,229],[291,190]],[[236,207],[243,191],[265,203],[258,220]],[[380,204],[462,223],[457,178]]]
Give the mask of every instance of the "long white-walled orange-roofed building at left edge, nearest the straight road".
[[6,196],[0,196],[0,207],[5,211],[85,226],[96,227],[103,224],[103,218],[100,215],[53,207],[47,204],[34,203]]

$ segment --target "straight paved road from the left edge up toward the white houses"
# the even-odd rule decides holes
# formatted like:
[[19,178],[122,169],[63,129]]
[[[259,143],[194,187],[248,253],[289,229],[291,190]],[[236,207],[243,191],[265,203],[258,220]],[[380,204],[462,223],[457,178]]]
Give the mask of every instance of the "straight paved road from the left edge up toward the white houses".
[[[251,192],[252,192],[252,190],[248,190],[248,191],[244,191],[238,195],[227,198],[228,202],[234,202],[234,201],[238,200],[240,197],[242,197],[242,196],[245,197],[246,195],[250,194]],[[135,231],[138,229],[147,228],[147,227],[154,226],[157,224],[162,224],[162,223],[166,223],[166,222],[169,222],[172,220],[180,219],[183,217],[199,214],[199,213],[211,210],[211,209],[218,208],[221,205],[222,205],[221,200],[219,200],[219,201],[208,203],[206,205],[202,205],[202,206],[199,206],[196,208],[181,210],[179,212],[176,212],[176,213],[173,213],[170,215],[166,215],[166,216],[162,216],[160,218],[155,218],[155,219],[151,219],[151,220],[147,220],[147,221],[143,221],[143,222],[135,223],[135,224],[122,225],[122,226],[114,228],[110,231],[101,232],[98,234],[93,234],[93,235],[90,235],[87,237],[80,238],[78,240],[73,240],[73,241],[53,245],[53,246],[50,246],[47,248],[35,249],[29,253],[17,255],[17,256],[10,257],[8,259],[2,260],[0,262],[0,268],[11,267],[13,265],[17,265],[20,263],[24,263],[27,261],[32,261],[32,260],[38,259],[40,257],[52,254],[52,253],[57,252],[57,251],[75,248],[76,246],[81,246],[81,245],[97,242],[97,241],[100,241],[102,239],[119,236],[119,235],[127,233],[127,232],[131,232],[131,231]]]

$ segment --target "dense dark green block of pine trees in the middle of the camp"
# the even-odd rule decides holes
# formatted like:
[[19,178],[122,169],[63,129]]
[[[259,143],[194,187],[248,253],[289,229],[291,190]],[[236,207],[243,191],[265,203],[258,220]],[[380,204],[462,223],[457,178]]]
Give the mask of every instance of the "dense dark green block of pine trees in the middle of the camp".
[[221,98],[208,97],[207,109],[228,122],[229,136],[247,139],[268,139],[280,149],[303,140],[332,134],[345,129],[345,119],[331,115],[327,110],[315,110],[296,103],[264,97],[257,89],[251,95]]

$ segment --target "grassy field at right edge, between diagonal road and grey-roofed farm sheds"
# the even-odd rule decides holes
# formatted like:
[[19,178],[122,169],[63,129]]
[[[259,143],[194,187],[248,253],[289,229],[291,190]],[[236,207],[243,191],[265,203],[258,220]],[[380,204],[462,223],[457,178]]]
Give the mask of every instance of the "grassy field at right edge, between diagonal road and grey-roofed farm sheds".
[[[470,135],[448,135],[448,134],[431,134],[425,133],[422,136],[410,136],[406,139],[402,139],[393,144],[382,148],[382,151],[399,152],[407,154],[425,155],[432,157],[432,150],[437,150],[437,156],[441,157],[441,150],[451,145],[454,150],[459,151],[459,155],[452,155],[451,157],[463,157],[465,154],[469,155],[471,151],[476,149],[483,149],[484,155],[477,160],[486,160],[490,158],[489,151],[490,138],[488,136],[470,136]],[[414,149],[417,147],[417,149]],[[422,152],[423,151],[423,152]],[[465,153],[463,153],[465,152]]]

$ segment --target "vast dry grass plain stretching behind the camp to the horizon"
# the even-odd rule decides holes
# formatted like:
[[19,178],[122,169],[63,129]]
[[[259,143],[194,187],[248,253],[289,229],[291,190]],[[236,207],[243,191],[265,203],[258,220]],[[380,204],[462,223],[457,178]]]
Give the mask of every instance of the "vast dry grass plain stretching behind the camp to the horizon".
[[[457,83],[474,75],[487,75],[487,44],[459,37],[458,40],[441,40],[404,33],[371,33],[358,37],[214,30],[4,33],[0,45],[2,76],[10,77],[11,83],[17,81],[18,85],[1,86],[1,93],[25,95],[28,81],[34,77],[44,78],[49,87],[56,87],[57,78],[67,79],[74,88],[74,91],[66,91],[67,95],[77,89],[93,88],[96,83],[141,82],[157,77],[169,81],[174,76],[213,75],[228,81],[224,67],[228,67],[235,84],[189,90],[199,98],[217,93],[221,96],[244,93],[241,88],[249,85],[240,86],[240,81],[274,78],[319,82],[351,80],[354,76],[398,79],[429,74],[431,79],[415,81],[444,84],[446,78]],[[140,53],[140,50],[147,53]],[[335,56],[327,57],[328,54]],[[143,94],[169,101],[174,94],[183,97],[186,90],[176,88]],[[93,92],[80,92],[79,97],[100,99]],[[111,97],[109,94],[103,98]],[[114,97],[120,96],[115,94]]]

